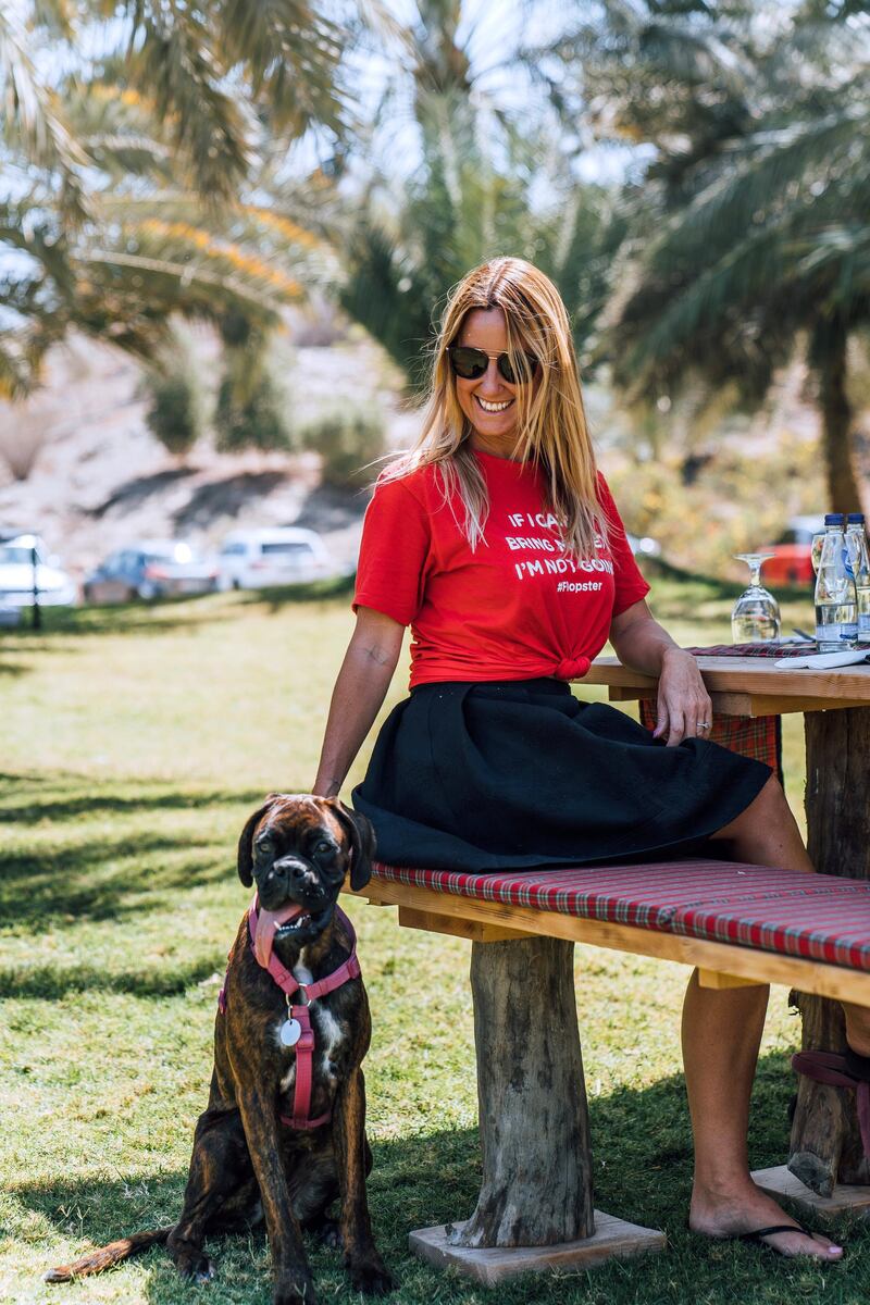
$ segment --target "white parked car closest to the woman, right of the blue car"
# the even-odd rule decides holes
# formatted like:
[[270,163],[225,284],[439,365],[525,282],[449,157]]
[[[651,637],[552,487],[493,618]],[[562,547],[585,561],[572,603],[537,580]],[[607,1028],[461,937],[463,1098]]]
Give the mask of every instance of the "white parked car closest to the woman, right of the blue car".
[[297,526],[233,530],[220,545],[218,566],[220,589],[297,585],[342,573],[321,536]]

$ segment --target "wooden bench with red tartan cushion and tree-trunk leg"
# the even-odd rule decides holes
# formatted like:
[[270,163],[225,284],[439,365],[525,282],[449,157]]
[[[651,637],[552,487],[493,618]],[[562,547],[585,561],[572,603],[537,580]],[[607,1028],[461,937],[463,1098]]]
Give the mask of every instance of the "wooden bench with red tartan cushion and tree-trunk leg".
[[361,895],[398,907],[400,925],[472,944],[483,1185],[470,1219],[411,1245],[490,1285],[664,1246],[593,1211],[575,942],[697,966],[713,988],[787,984],[870,1006],[861,880],[703,860],[500,874],[380,865]]

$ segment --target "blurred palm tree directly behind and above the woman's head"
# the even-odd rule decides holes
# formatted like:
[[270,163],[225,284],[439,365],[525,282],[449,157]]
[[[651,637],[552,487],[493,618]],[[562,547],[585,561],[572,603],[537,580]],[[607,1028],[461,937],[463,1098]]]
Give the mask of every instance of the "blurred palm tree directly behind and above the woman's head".
[[[335,240],[344,249],[342,304],[378,339],[412,384],[450,287],[500,253],[549,273],[575,312],[582,346],[604,294],[603,236],[621,224],[607,192],[578,187],[553,121],[524,120],[485,93],[458,31],[462,0],[417,0],[416,21],[393,29],[397,78],[374,116],[413,140],[419,163],[373,164]],[[489,69],[492,70],[492,69]],[[537,183],[545,200],[533,200]]]

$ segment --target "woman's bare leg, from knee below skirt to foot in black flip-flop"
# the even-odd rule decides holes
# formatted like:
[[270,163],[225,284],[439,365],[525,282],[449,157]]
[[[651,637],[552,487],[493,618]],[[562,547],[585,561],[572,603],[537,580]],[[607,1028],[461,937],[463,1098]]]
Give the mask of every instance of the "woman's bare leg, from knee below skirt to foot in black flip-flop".
[[[768,780],[736,821],[716,835],[736,860],[813,870],[779,782]],[[695,1177],[689,1221],[711,1237],[751,1232],[794,1220],[749,1176],[749,1099],[764,1027],[768,989],[702,988],[693,974],[682,1017],[686,1090],[695,1141]],[[837,1259],[827,1237],[801,1232],[770,1238],[787,1255]]]

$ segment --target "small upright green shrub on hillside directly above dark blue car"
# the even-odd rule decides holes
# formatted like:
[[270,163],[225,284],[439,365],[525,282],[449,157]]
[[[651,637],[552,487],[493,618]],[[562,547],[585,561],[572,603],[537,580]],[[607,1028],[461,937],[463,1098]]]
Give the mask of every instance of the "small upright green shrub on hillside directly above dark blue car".
[[170,453],[184,457],[206,432],[206,405],[196,355],[179,328],[145,372],[142,392],[149,431]]

